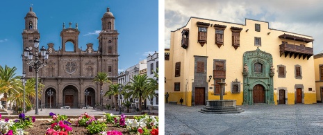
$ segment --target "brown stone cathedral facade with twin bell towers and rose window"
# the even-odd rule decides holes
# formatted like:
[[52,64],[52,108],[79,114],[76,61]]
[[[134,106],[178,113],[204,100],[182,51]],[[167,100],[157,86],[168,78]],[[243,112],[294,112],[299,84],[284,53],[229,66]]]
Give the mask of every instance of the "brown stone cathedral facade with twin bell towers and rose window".
[[[34,39],[41,41],[38,31],[38,17],[33,12],[33,8],[30,8],[24,19],[23,49],[33,48]],[[101,21],[102,30],[97,38],[99,40],[97,51],[94,51],[92,43],[86,44],[86,48],[83,50],[78,48],[80,31],[77,24],[75,28],[72,28],[71,23],[67,28],[63,24],[63,30],[60,32],[62,43],[58,50],[54,49],[53,43],[47,44],[49,52],[47,66],[42,67],[38,73],[40,82],[45,86],[41,91],[40,104],[42,107],[81,108],[85,107],[85,102],[90,107],[101,103],[107,105],[112,102],[109,97],[103,97],[109,89],[109,84],[103,84],[101,88],[99,83],[92,82],[98,72],[105,72],[110,81],[117,83],[119,33],[115,30],[115,17],[110,12],[110,8],[107,8]],[[67,42],[74,45],[73,51],[67,51],[65,47]],[[35,49],[32,50],[32,53],[35,54]],[[35,70],[26,64],[24,57],[22,59],[23,72],[26,72],[26,77],[35,78]],[[49,96],[48,91],[53,91],[53,95]],[[85,91],[90,92],[88,96],[85,96]]]

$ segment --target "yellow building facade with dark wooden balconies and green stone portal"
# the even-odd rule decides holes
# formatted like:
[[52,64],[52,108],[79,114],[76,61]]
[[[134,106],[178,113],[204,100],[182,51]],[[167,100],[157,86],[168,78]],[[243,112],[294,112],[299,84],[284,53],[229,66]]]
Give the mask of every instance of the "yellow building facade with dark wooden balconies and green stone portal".
[[[313,40],[269,28],[266,21],[191,17],[171,32],[165,49],[168,101],[205,105],[219,100],[222,90],[224,100],[237,105],[316,103]],[[217,82],[226,85],[221,89]]]

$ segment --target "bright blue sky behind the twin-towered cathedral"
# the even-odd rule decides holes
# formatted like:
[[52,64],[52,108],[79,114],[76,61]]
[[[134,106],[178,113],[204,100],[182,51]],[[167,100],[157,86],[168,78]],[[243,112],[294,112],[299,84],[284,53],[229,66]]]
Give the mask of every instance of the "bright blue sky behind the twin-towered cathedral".
[[63,22],[66,28],[72,22],[72,28],[78,23],[81,32],[78,48],[82,46],[84,50],[86,44],[92,43],[97,51],[98,34],[94,33],[101,30],[101,17],[109,7],[119,32],[119,69],[133,66],[146,59],[148,53],[158,51],[158,1],[1,1],[0,65],[16,66],[17,75],[22,74],[22,30],[31,3],[38,17],[40,46],[47,48],[48,43],[53,43],[58,50]]

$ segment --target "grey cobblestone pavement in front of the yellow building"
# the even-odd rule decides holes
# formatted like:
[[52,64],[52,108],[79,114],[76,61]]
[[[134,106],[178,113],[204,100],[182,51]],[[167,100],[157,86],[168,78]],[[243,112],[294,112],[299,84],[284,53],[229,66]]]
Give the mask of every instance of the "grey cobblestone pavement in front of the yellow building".
[[323,134],[323,104],[240,106],[241,114],[203,107],[165,104],[165,134]]

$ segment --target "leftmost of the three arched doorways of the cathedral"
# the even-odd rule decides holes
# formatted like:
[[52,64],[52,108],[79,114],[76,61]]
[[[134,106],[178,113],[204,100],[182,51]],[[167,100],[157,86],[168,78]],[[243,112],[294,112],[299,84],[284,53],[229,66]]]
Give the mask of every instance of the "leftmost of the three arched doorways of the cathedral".
[[[49,91],[51,91],[51,95],[49,95]],[[53,87],[48,87],[44,91],[44,105],[45,108],[57,108],[57,91]]]

